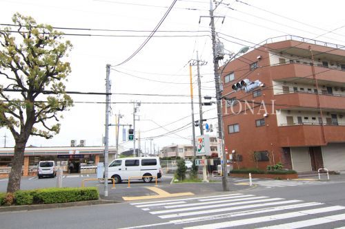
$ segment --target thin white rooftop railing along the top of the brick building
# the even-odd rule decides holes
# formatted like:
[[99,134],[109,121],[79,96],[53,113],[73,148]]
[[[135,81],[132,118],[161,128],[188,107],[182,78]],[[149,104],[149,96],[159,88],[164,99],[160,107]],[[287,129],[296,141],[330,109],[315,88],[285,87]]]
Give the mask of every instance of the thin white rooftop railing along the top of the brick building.
[[328,43],[328,42],[324,42],[324,41],[317,41],[314,39],[307,39],[304,38],[302,36],[293,36],[293,35],[285,35],[285,36],[276,36],[270,39],[266,39],[265,41],[263,41],[262,43],[260,43],[260,45],[262,44],[269,44],[269,43],[275,43],[275,42],[279,42],[279,41],[300,41],[303,43],[310,43],[313,45],[322,45],[324,47],[331,47],[331,48],[336,48],[339,50],[345,50],[345,46],[344,45],[337,45],[337,44],[333,44],[333,43]]

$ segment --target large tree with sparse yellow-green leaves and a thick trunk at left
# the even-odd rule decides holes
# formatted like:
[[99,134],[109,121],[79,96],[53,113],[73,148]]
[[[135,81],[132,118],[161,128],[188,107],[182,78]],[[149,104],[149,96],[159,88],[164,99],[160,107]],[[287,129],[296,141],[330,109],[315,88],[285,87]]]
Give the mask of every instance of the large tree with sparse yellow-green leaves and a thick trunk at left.
[[[71,72],[70,63],[62,61],[72,49],[70,41],[32,17],[17,13],[12,21],[13,30],[0,30],[0,127],[8,128],[15,141],[8,193],[20,189],[30,135],[49,139],[59,133],[59,111],[73,103],[63,84]],[[8,91],[19,91],[20,96],[10,98]]]

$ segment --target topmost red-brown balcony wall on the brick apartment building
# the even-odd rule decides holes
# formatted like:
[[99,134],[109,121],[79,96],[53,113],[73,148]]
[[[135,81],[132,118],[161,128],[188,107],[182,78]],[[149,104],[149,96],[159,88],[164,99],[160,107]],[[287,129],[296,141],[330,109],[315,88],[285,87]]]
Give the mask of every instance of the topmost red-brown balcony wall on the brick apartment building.
[[[317,80],[345,83],[345,71],[342,70],[315,66],[315,74]],[[284,64],[270,67],[270,76],[273,80],[287,80],[288,78],[310,80],[313,79],[313,71],[311,65]]]

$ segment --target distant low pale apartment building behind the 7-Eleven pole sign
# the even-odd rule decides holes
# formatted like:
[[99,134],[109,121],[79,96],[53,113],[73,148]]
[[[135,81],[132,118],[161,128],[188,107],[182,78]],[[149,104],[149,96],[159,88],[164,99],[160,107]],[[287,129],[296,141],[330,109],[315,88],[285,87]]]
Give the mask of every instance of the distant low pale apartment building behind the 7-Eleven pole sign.
[[[211,157],[218,157],[217,138],[213,136],[210,136],[210,151]],[[170,146],[164,146],[161,149],[159,157],[181,157],[190,160],[193,157],[193,144],[171,144]]]

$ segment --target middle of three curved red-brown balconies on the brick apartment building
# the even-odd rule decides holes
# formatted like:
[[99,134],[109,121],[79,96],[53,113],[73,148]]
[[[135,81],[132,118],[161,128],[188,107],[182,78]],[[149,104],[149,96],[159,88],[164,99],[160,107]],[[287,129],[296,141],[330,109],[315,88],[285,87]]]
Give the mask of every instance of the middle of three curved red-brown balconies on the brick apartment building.
[[[317,108],[317,97],[315,93],[295,92],[278,94],[275,95],[275,100],[277,105]],[[345,96],[319,94],[319,102],[322,109],[345,109]]]

